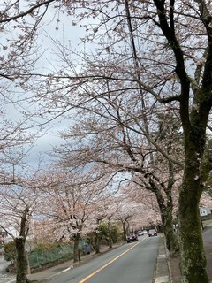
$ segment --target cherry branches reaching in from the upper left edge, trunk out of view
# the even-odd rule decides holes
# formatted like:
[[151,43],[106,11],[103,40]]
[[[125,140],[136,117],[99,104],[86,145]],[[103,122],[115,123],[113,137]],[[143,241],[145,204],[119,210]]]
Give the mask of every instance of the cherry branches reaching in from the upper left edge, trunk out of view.
[[[15,183],[14,175],[33,147],[37,130],[27,115],[25,102],[30,96],[21,89],[39,57],[36,42],[39,26],[53,1],[4,1],[0,11],[0,183]],[[27,4],[27,5],[26,5]],[[30,123],[32,123],[30,125]],[[11,172],[13,172],[11,174]],[[13,175],[13,176],[11,176]]]

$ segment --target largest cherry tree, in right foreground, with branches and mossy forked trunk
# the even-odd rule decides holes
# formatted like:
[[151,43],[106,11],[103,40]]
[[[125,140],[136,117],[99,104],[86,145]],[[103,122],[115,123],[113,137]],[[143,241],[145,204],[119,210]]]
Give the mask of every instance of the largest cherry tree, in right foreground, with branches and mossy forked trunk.
[[[69,12],[77,13],[82,2],[72,4],[68,1],[65,4]],[[63,111],[76,105],[80,107],[82,103],[87,105],[94,98],[99,99],[103,109],[101,99],[106,92],[110,93],[113,102],[115,92],[118,96],[125,94],[126,101],[131,92],[137,91],[142,105],[140,117],[145,113],[151,126],[154,119],[148,120],[150,110],[165,111],[169,108],[178,112],[185,146],[183,162],[164,150],[160,149],[160,153],[171,166],[175,164],[184,170],[178,213],[181,280],[208,283],[199,203],[204,188],[205,172],[201,164],[204,163],[206,127],[211,109],[211,4],[207,0],[170,3],[154,0],[151,4],[104,0],[83,4],[89,9],[80,12],[79,19],[95,17],[90,30],[87,25],[89,33],[85,40],[97,38],[99,49],[93,52],[93,58],[92,54],[81,56],[85,64],[80,70],[74,67],[74,58],[68,68],[63,66],[60,73],[51,74],[49,85],[54,88],[54,97],[64,102]],[[64,51],[62,57],[65,54]],[[65,80],[69,87],[61,97]],[[87,98],[87,90],[93,96]],[[71,92],[78,94],[80,99],[72,101],[69,98]],[[132,98],[126,105],[133,111],[138,104]],[[105,109],[105,115],[109,112],[110,108]],[[130,121],[134,122],[124,119],[120,113],[118,115],[122,125],[126,121],[128,125]],[[114,124],[110,125],[111,129],[115,129]],[[147,138],[148,129],[144,129],[142,133]],[[148,142],[159,149],[153,135]],[[188,231],[193,231],[192,245]]]

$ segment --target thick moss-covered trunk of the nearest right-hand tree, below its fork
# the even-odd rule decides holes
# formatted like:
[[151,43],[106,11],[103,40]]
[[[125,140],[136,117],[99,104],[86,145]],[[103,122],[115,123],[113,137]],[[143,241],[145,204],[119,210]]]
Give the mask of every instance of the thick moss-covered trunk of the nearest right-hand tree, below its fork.
[[[179,246],[181,282],[208,283],[203,249],[199,202],[201,198],[201,154],[186,150],[184,179],[179,191]],[[192,150],[193,149],[193,150]]]

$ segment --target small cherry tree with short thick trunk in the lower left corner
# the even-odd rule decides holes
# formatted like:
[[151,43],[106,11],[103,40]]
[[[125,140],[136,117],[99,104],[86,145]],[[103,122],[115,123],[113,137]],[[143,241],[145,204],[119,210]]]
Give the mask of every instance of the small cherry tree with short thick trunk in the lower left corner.
[[[38,168],[37,171],[35,168],[32,170],[29,165],[25,166],[20,163],[21,158],[19,162],[18,160],[17,157],[17,163],[15,163],[17,167],[12,167],[13,170],[11,167],[6,168],[4,180],[0,183],[0,227],[15,242],[16,282],[23,283],[29,282],[27,279],[27,237],[33,220],[40,217],[42,189],[52,186],[52,183],[41,174],[41,168]],[[15,162],[15,156],[13,162]]]

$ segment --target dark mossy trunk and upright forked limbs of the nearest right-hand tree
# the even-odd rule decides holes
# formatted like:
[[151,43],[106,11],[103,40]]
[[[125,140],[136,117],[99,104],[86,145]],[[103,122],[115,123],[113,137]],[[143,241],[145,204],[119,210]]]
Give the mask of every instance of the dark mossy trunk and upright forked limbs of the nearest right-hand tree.
[[[173,13],[170,13],[170,19],[168,19],[165,2],[154,0],[159,27],[176,58],[175,72],[181,87],[178,102],[185,136],[185,166],[183,183],[179,189],[178,220],[180,270],[181,282],[183,283],[208,283],[199,204],[204,187],[202,161],[206,147],[206,127],[212,105],[212,17],[205,1],[197,0],[196,2],[199,4],[200,20],[208,35],[208,48],[206,49],[204,68],[201,70],[202,75],[199,76],[201,83],[196,80],[197,88],[192,88],[191,80],[186,73],[185,54],[175,34]],[[174,1],[170,6],[170,11],[174,11],[173,9]],[[199,70],[197,71],[199,72]],[[192,108],[190,107],[191,92],[193,92]]]

